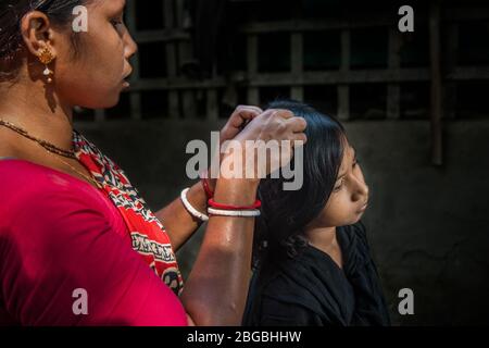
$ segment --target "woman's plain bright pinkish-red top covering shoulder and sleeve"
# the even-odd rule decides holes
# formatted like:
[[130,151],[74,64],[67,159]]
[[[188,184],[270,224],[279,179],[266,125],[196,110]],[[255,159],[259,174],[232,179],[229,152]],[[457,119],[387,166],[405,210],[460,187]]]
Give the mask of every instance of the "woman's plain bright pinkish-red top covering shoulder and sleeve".
[[[178,298],[133,250],[122,216],[115,224],[103,211],[101,192],[24,162],[0,163],[0,307],[13,322],[185,325]],[[89,315],[73,311],[79,289]]]

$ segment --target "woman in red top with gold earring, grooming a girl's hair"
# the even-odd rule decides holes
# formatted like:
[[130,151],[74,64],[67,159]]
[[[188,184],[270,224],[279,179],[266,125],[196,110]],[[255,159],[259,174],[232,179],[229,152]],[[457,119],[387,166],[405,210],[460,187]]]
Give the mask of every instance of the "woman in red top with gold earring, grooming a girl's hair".
[[[240,323],[255,215],[229,212],[255,212],[259,178],[204,179],[153,213],[73,129],[74,105],[111,108],[128,86],[137,46],[124,7],[0,0],[0,324]],[[84,9],[87,30],[74,30]],[[288,111],[241,107],[221,140],[305,141],[304,128]],[[211,196],[228,210],[202,215]],[[204,217],[184,286],[175,251]]]

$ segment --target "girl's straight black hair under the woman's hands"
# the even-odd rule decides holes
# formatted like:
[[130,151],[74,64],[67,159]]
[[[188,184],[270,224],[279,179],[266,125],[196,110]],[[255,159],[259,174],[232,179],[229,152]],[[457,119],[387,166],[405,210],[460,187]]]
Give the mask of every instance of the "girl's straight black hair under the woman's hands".
[[[346,144],[342,125],[308,104],[278,100],[267,109],[290,110],[305,119],[308,141],[303,147],[303,185],[299,190],[284,190],[283,177],[268,176],[260,184],[262,215],[255,223],[254,266],[267,257],[293,258],[306,246],[303,228],[324,210],[337,181]],[[292,159],[292,166],[296,165]]]

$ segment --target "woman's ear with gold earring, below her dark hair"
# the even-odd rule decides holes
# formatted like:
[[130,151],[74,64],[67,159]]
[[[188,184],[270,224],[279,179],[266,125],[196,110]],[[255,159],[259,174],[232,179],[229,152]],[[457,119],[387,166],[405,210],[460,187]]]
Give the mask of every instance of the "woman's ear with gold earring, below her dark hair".
[[21,21],[21,35],[28,52],[39,57],[42,49],[49,49],[57,57],[54,30],[48,16],[40,11],[27,13]]

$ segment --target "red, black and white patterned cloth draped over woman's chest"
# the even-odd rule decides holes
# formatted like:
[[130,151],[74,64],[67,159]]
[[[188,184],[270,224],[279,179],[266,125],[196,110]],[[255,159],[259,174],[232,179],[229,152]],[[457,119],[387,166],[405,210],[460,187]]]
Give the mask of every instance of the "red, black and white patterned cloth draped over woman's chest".
[[148,208],[138,190],[111,159],[77,130],[73,132],[76,158],[102,185],[103,190],[121,212],[137,251],[156,275],[176,294],[183,289],[170,237],[163,224]]

